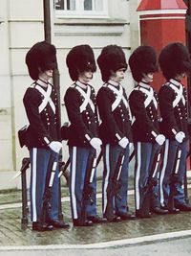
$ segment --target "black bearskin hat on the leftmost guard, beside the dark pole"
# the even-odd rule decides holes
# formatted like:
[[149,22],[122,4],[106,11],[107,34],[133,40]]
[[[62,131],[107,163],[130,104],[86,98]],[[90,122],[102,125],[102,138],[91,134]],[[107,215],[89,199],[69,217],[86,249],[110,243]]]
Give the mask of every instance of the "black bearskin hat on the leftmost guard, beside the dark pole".
[[32,80],[37,80],[39,69],[44,72],[56,68],[55,47],[46,41],[37,42],[27,53],[25,61]]

